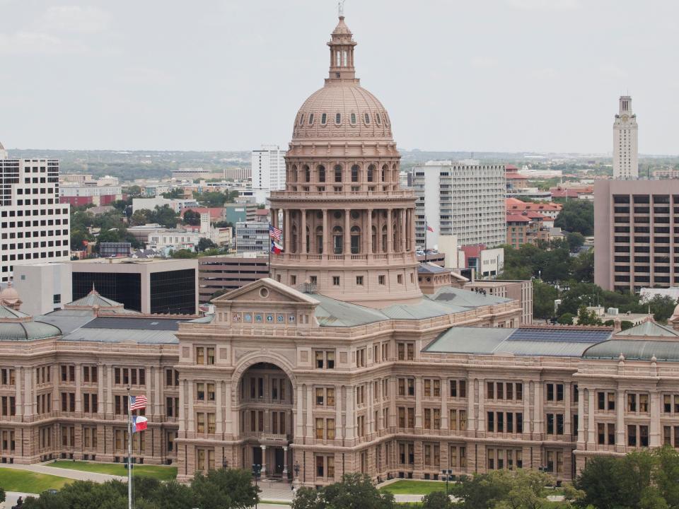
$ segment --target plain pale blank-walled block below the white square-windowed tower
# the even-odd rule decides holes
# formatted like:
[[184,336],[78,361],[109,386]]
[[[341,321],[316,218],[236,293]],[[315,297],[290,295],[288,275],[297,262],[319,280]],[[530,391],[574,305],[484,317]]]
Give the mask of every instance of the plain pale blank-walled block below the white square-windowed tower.
[[21,310],[36,316],[64,308],[73,300],[71,278],[69,262],[17,265],[13,286],[23,299]]

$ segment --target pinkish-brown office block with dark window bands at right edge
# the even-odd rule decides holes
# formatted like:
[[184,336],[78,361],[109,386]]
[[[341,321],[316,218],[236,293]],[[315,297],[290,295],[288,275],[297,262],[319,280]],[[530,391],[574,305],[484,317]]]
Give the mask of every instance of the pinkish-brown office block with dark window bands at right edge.
[[594,182],[594,282],[606,290],[679,286],[679,180]]

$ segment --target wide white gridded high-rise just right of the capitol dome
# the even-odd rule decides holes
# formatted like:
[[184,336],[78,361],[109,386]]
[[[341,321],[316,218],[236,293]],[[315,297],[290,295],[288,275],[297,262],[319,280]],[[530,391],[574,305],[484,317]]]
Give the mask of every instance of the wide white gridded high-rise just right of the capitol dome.
[[439,235],[457,236],[460,246],[505,243],[504,165],[429,161],[412,171],[419,247],[425,246],[424,235],[429,249],[438,247]]

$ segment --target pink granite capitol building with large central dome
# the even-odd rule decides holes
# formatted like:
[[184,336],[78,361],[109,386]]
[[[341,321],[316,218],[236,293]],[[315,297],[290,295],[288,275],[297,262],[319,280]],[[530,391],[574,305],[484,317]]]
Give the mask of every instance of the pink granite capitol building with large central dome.
[[[349,472],[438,479],[679,447],[679,315],[620,332],[536,327],[415,257],[391,118],[354,71],[340,16],[330,74],[301,106],[271,277],[204,317],[143,315],[93,291],[31,317],[0,293],[0,462],[122,462],[127,387],[148,399],[134,458],[180,480],[262,465],[322,486]],[[282,221],[279,223],[279,218]]]

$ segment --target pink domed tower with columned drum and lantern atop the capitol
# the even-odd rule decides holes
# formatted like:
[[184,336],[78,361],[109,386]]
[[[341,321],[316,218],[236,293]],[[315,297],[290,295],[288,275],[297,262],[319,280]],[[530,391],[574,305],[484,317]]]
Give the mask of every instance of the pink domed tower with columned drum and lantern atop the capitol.
[[417,302],[414,193],[400,189],[389,115],[355,77],[344,16],[328,45],[330,75],[296,115],[286,189],[271,195],[284,232],[272,278],[373,307]]

